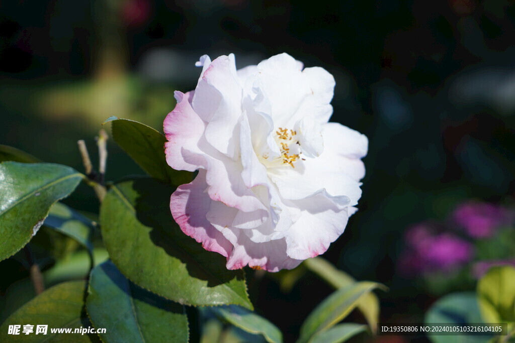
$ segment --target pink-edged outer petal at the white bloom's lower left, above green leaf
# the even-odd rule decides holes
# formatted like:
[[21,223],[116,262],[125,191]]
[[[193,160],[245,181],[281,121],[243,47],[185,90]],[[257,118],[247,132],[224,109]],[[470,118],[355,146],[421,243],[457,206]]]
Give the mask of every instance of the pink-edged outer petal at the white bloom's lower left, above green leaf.
[[179,186],[171,195],[171,214],[182,232],[202,243],[204,249],[227,257],[232,251],[232,244],[206,219],[212,202],[204,193],[207,187],[205,171],[201,170],[193,182]]

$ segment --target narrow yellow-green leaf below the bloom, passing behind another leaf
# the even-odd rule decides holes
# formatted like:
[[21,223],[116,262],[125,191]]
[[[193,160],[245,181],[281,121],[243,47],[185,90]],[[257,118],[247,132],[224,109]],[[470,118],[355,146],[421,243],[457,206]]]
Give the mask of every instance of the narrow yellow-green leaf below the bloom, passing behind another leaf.
[[[307,259],[303,264],[336,289],[346,287],[356,282],[352,276],[335,268],[331,263],[321,257]],[[370,330],[375,333],[377,321],[379,321],[380,308],[377,296],[372,292],[364,295],[358,301],[357,308],[363,313]]]

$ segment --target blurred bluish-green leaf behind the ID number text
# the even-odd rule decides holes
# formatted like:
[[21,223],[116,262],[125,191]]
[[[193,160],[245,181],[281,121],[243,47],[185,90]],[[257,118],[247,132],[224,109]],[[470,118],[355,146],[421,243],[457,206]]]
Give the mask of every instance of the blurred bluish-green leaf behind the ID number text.
[[[424,322],[432,323],[481,323],[481,315],[477,305],[476,295],[472,292],[452,293],[436,301],[425,315]],[[432,335],[427,336],[434,343],[480,343],[488,340],[489,336],[448,336]]]

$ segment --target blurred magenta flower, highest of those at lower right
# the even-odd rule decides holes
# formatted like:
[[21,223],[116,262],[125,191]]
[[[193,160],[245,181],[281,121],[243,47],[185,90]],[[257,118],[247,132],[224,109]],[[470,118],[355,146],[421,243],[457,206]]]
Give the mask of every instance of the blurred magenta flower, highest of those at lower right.
[[466,202],[454,210],[453,219],[470,237],[487,238],[493,236],[497,227],[506,223],[507,213],[492,204]]

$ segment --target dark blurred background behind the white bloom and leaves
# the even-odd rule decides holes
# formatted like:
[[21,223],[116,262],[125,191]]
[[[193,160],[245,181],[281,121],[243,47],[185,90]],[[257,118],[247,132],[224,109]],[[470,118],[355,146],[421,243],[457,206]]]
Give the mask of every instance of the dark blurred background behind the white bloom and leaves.
[[[507,0],[2,1],[0,143],[82,170],[76,141],[95,155],[109,116],[161,131],[203,54],[322,66],[336,79],[332,121],[370,141],[359,211],[324,257],[390,287],[383,321],[421,321],[435,296],[399,273],[405,229],[515,195],[514,43]],[[108,179],[142,173],[112,140],[109,153]],[[67,203],[98,206],[85,187]],[[331,292],[304,276],[285,294],[276,276],[248,273],[255,307],[287,341]]]

